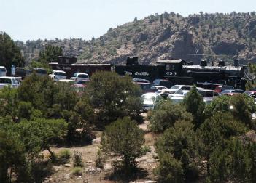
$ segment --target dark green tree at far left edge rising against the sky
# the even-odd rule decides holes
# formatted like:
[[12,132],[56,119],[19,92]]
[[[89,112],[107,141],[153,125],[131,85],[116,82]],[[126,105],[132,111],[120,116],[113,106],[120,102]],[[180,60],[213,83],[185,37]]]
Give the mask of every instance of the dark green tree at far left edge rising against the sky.
[[20,48],[7,33],[0,34],[0,65],[4,65],[7,71],[12,65],[15,67],[23,67],[25,64]]

